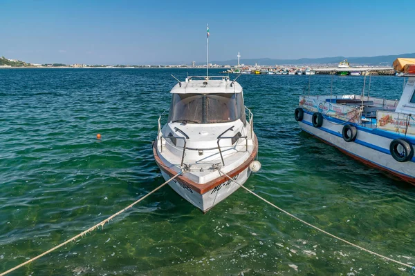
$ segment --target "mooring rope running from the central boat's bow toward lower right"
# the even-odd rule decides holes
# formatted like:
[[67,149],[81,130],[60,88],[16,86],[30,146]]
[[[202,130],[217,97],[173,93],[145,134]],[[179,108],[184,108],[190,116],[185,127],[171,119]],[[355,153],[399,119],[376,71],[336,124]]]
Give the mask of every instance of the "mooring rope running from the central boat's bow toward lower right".
[[322,232],[322,233],[324,233],[324,234],[326,234],[326,235],[329,235],[330,237],[333,237],[333,238],[338,239],[338,240],[340,240],[340,241],[342,241],[342,242],[344,242],[344,243],[346,243],[346,244],[349,244],[349,245],[351,245],[351,246],[354,246],[354,247],[356,247],[356,248],[359,248],[360,250],[366,251],[367,253],[370,253],[370,254],[376,255],[376,256],[381,257],[381,258],[383,258],[383,259],[387,259],[388,261],[391,261],[391,262],[395,262],[396,264],[400,264],[401,266],[406,266],[407,268],[410,268],[410,269],[411,269],[411,271],[415,269],[415,266],[411,266],[411,265],[409,265],[409,264],[405,264],[405,263],[403,263],[403,262],[399,262],[399,261],[397,261],[396,259],[391,259],[391,258],[389,258],[389,257],[386,257],[386,256],[384,256],[384,255],[380,255],[380,254],[378,254],[378,253],[376,253],[376,252],[374,252],[374,251],[371,251],[371,250],[369,250],[369,249],[362,248],[362,246],[358,246],[357,244],[353,244],[353,243],[351,243],[351,242],[348,242],[346,239],[342,239],[341,237],[338,237],[338,236],[333,235],[333,234],[331,234],[331,233],[329,233],[329,232],[326,232],[326,231],[324,231],[324,230],[322,230],[322,229],[318,228],[317,226],[313,226],[313,224],[309,224],[307,221],[304,221],[304,220],[302,220],[302,219],[300,219],[300,218],[298,218],[298,217],[295,217],[295,215],[292,215],[291,213],[288,213],[286,210],[284,210],[284,209],[282,209],[282,208],[279,208],[279,207],[278,207],[278,206],[276,206],[275,204],[272,204],[270,201],[268,201],[268,200],[264,199],[264,197],[261,197],[261,196],[257,195],[256,193],[252,192],[252,190],[249,190],[248,188],[246,188],[246,187],[242,186],[242,185],[241,185],[241,184],[239,184],[237,181],[235,181],[234,179],[232,179],[232,177],[230,177],[229,175],[225,174],[225,172],[222,172],[221,170],[219,170],[219,173],[223,173],[223,175],[225,175],[226,177],[228,177],[228,179],[230,179],[230,180],[234,181],[234,183],[238,184],[239,186],[241,186],[242,188],[244,188],[245,190],[247,190],[247,191],[248,191],[249,193],[251,193],[252,195],[255,195],[255,197],[258,197],[259,199],[261,199],[261,200],[265,201],[266,203],[270,204],[270,206],[273,206],[274,208],[277,208],[277,209],[278,209],[278,210],[280,210],[282,213],[285,213],[286,215],[289,215],[290,217],[293,217],[293,219],[297,219],[298,221],[302,222],[303,224],[306,224],[307,226],[310,226],[311,228],[314,228],[315,230],[319,230],[320,232]]

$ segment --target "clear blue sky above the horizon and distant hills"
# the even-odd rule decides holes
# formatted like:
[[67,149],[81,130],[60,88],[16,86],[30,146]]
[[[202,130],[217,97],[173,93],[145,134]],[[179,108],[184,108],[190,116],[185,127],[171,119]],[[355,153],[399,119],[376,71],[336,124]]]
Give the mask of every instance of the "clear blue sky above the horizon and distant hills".
[[414,0],[0,0],[0,56],[147,64],[415,52]]

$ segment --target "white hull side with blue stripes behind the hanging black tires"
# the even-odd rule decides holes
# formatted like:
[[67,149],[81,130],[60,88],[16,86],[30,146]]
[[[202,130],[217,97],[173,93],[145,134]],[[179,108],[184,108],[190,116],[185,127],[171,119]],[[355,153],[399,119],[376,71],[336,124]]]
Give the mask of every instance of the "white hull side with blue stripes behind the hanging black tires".
[[311,117],[311,114],[304,112],[304,119],[298,122],[302,130],[346,151],[366,164],[389,170],[406,181],[415,182],[415,158],[412,161],[398,162],[390,154],[389,145],[396,137],[377,135],[371,129],[366,128],[365,131],[365,128],[358,127],[356,141],[348,143],[342,138],[344,124],[333,124],[333,122],[324,119],[322,127],[315,128],[311,123]]

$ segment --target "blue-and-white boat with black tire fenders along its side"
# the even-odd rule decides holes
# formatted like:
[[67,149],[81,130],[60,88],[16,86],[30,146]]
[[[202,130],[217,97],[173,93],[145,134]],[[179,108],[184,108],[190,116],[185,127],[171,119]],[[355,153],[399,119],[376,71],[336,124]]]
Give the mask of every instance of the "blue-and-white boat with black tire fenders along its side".
[[413,64],[415,59],[394,61],[394,68],[407,77],[399,101],[369,93],[301,96],[295,120],[304,132],[415,185],[415,74],[409,73]]

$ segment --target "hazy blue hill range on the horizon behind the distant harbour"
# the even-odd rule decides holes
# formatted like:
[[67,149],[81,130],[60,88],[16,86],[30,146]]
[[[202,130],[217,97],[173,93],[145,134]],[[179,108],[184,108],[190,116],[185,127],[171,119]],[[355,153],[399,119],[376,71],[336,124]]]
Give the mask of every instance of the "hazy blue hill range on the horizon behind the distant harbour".
[[[352,65],[382,65],[391,66],[395,59],[398,57],[412,57],[415,58],[415,53],[402,54],[402,55],[389,55],[389,56],[376,56],[376,57],[320,57],[316,59],[241,59],[240,63],[253,65],[258,63],[260,65],[311,65],[311,64],[337,64],[343,59],[347,59]],[[234,66],[238,63],[237,59],[230,59],[227,61],[211,61],[212,64],[218,65],[231,65]]]

